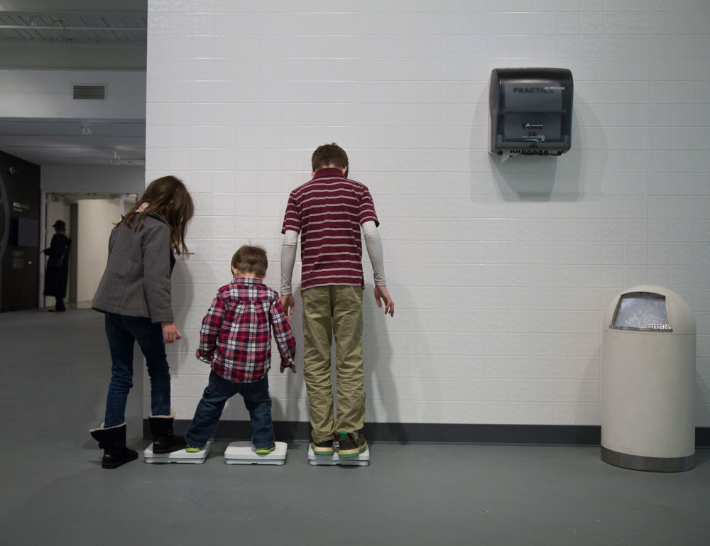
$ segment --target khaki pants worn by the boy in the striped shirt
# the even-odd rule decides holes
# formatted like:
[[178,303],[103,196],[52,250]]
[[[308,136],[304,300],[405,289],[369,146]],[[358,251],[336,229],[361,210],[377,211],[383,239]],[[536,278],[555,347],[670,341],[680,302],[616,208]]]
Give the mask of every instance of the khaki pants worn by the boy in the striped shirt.
[[[345,285],[317,286],[301,292],[303,376],[314,442],[331,440],[334,432],[355,432],[365,422],[362,292],[361,286]],[[333,335],[338,392],[335,420],[330,381]]]

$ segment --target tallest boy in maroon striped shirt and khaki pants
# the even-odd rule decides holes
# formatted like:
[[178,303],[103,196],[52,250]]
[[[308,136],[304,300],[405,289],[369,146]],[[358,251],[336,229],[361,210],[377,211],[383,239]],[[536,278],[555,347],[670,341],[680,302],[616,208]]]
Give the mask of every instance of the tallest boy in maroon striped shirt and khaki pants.
[[[362,358],[362,273],[360,228],[375,278],[378,307],[394,315],[385,282],[379,221],[367,187],[349,180],[348,156],[337,144],[325,144],[311,158],[312,180],[290,194],[281,246],[281,303],[290,320],[294,300],[291,276],[297,238],[301,238],[303,300],[303,376],[306,381],[312,449],[356,457],[367,448]],[[330,381],[331,339],[335,336],[337,416],[333,419]]]

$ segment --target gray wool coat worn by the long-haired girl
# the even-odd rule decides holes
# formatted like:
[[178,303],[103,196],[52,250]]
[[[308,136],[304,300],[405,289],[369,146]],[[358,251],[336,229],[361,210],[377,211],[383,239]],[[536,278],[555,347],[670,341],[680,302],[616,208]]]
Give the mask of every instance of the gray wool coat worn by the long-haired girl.
[[158,214],[148,212],[141,231],[119,224],[111,231],[109,259],[92,307],[148,317],[151,322],[173,322],[170,274],[174,265],[170,226]]

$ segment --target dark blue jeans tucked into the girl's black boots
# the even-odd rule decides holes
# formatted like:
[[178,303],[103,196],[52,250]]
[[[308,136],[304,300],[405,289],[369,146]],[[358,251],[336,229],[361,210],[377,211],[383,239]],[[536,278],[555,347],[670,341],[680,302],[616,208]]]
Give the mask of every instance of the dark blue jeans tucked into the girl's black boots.
[[153,415],[170,415],[170,367],[160,323],[106,313],[105,326],[112,364],[104,427],[115,427],[126,420],[126,399],[133,386],[134,342],[138,342],[146,357],[151,377],[151,411]]

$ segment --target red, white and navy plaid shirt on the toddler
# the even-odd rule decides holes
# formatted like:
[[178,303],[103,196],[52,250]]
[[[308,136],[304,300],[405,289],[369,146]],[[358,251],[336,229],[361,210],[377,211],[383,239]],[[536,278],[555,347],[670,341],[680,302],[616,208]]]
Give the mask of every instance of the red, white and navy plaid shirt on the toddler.
[[271,368],[272,328],[283,371],[293,366],[296,342],[278,293],[260,278],[234,278],[204,315],[195,356],[229,381],[253,383]]

